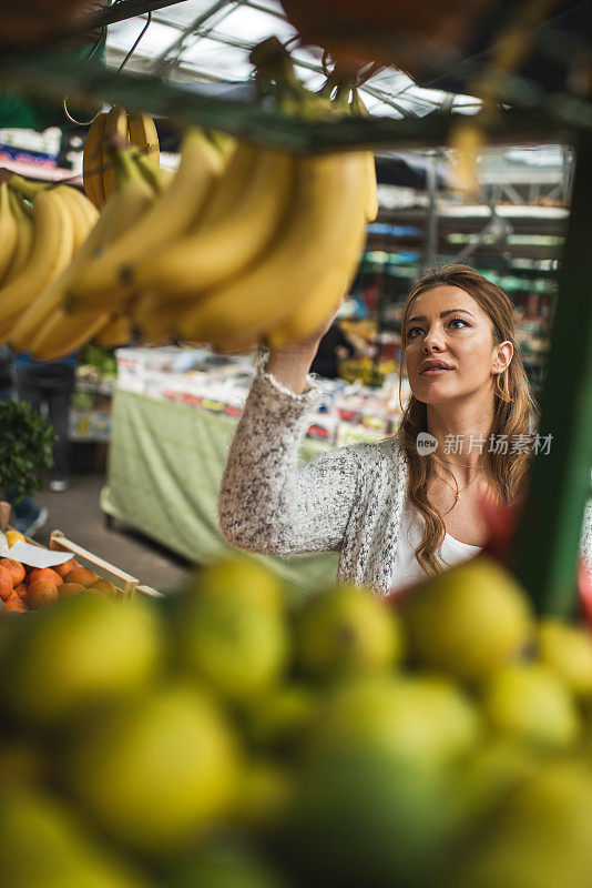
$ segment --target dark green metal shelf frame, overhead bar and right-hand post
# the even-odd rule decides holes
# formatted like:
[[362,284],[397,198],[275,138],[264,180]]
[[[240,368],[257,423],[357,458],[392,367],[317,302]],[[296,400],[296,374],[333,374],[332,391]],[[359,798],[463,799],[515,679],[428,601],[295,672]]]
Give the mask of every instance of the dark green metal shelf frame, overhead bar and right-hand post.
[[[123,21],[173,6],[180,0],[122,0],[85,19],[80,30]],[[225,3],[204,12],[204,22]],[[256,3],[249,3],[256,8]],[[268,10],[266,10],[268,11]],[[205,17],[205,18],[204,18]],[[194,21],[182,34],[198,28]],[[182,38],[180,38],[182,39]],[[70,94],[126,109],[164,115],[178,124],[196,123],[224,130],[253,142],[295,152],[371,148],[446,145],[450,130],[467,119],[435,111],[422,119],[351,117],[335,121],[302,121],[254,103],[207,94],[157,77],[115,74],[88,64],[73,64],[68,53],[4,53],[4,84],[32,95]],[[588,255],[592,243],[592,98],[588,94],[545,95],[516,79],[503,93],[508,105],[476,114],[490,143],[535,144],[553,141],[575,148],[573,199],[559,276],[552,349],[541,395],[540,434],[552,435],[549,455],[533,458],[532,481],[518,532],[513,567],[541,613],[568,614],[575,606],[575,571],[580,527],[591,495],[592,468],[592,299]]]

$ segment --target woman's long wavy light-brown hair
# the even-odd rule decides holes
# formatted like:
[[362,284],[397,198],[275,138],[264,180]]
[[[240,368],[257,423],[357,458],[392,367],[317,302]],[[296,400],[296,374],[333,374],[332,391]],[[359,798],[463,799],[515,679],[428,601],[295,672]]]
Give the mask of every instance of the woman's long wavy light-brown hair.
[[[499,345],[509,341],[514,346],[510,365],[500,374],[494,386],[493,422],[489,430],[489,435],[496,435],[496,441],[498,435],[507,435],[508,452],[497,452],[497,448],[493,448],[487,453],[486,465],[491,490],[501,503],[511,505],[525,481],[531,460],[528,448],[518,453],[511,452],[512,436],[532,433],[539,418],[539,411],[530,392],[524,363],[516,341],[512,303],[499,286],[469,265],[443,265],[430,271],[417,282],[405,303],[401,321],[401,376],[406,372],[406,324],[409,312],[421,293],[437,286],[457,286],[472,296],[491,320],[493,343]],[[443,568],[438,553],[445,539],[446,527],[442,516],[428,500],[429,484],[435,475],[435,460],[431,454],[420,456],[417,451],[417,436],[419,432],[427,431],[427,405],[411,393],[397,436],[409,466],[407,494],[425,519],[423,537],[415,555],[427,574],[436,574]]]

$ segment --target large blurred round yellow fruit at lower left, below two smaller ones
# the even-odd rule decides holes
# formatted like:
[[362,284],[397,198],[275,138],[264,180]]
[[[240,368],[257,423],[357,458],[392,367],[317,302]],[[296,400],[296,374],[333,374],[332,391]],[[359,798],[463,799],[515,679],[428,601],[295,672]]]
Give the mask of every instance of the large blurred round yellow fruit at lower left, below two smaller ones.
[[64,779],[106,833],[160,852],[227,813],[238,770],[218,706],[176,683],[90,722],[68,750]]

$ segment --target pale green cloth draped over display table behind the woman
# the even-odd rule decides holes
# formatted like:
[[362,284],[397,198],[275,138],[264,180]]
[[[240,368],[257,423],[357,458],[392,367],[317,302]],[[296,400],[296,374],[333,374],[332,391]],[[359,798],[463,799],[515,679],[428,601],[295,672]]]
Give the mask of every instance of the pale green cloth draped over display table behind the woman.
[[[200,564],[228,552],[216,502],[237,421],[121,389],[112,417],[103,512]],[[306,438],[300,455],[306,461],[325,450],[326,443]],[[337,569],[335,553],[262,561],[310,587],[334,579]]]

